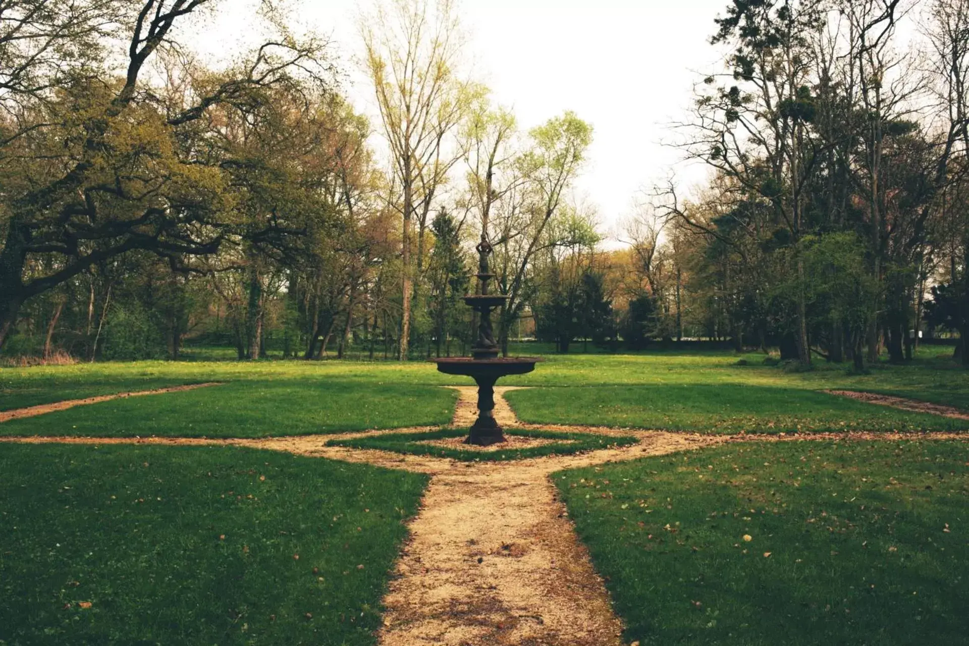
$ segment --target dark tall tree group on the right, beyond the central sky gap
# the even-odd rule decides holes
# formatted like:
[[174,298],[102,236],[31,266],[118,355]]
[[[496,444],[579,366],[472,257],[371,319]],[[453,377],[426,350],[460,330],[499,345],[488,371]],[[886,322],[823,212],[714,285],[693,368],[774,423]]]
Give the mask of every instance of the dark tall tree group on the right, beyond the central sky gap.
[[922,329],[964,340],[969,3],[735,0],[716,25],[726,73],[675,124],[712,178],[657,187],[631,234],[661,327],[690,311],[738,348],[857,369],[910,359]]

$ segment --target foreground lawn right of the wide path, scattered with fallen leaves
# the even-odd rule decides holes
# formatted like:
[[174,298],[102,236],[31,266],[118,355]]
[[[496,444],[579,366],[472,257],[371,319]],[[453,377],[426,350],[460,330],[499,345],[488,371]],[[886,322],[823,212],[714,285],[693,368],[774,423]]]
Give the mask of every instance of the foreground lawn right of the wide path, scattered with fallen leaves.
[[969,632],[969,444],[735,444],[553,478],[643,646]]

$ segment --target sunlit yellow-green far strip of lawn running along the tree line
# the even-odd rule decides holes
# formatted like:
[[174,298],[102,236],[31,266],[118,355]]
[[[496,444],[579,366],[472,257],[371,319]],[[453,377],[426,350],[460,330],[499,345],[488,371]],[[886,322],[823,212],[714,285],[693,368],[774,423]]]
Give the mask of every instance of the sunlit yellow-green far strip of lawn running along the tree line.
[[[545,344],[522,344],[513,354],[543,354]],[[815,370],[786,372],[763,365],[763,354],[732,352],[545,354],[535,372],[500,385],[721,385],[747,384],[821,390],[887,392],[969,410],[969,370],[950,358],[952,348],[925,346],[909,364],[879,363],[867,375],[849,375],[845,364],[815,361]],[[738,358],[748,365],[736,365]],[[438,373],[426,361],[136,361],[73,366],[0,368],[0,410],[122,390],[200,382],[297,382],[325,387],[329,380],[387,385],[471,385]]]

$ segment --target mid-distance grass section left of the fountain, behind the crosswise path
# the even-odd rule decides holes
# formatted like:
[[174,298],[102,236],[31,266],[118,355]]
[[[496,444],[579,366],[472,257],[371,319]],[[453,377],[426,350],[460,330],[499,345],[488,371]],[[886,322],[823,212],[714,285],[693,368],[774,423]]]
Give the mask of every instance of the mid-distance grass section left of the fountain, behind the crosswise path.
[[237,381],[13,419],[0,435],[254,438],[396,428],[447,423],[456,397],[429,385]]

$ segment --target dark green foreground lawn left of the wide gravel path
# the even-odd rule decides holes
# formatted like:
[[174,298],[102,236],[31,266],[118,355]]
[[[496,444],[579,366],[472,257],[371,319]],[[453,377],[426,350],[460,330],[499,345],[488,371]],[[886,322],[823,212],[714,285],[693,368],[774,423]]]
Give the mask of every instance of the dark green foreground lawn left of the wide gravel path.
[[12,646],[373,644],[426,482],[227,447],[4,445],[0,474]]

